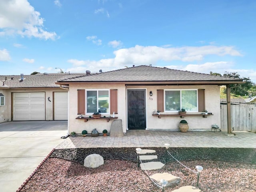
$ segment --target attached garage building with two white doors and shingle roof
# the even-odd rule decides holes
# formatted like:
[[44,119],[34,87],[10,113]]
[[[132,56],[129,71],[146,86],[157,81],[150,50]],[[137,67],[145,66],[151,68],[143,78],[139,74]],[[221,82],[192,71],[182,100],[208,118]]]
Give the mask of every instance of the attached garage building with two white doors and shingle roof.
[[68,89],[54,82],[85,74],[0,75],[0,123],[68,120]]

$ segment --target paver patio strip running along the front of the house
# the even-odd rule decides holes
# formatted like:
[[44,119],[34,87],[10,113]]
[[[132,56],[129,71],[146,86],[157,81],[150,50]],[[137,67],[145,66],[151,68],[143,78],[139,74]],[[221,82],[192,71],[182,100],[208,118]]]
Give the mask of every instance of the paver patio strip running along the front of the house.
[[59,144],[61,148],[98,148],[98,147],[216,147],[216,148],[256,148],[256,134],[236,132],[228,136],[226,132],[211,131],[156,131],[128,130],[122,138],[115,137],[68,137]]

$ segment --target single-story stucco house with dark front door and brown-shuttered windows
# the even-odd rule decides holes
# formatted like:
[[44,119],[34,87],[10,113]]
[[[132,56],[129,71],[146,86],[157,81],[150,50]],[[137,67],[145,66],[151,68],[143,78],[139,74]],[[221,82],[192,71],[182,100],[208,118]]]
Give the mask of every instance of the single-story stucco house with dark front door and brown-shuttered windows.
[[[238,83],[243,83],[242,79],[152,66],[56,82],[69,89],[68,126],[69,132],[76,133],[90,133],[94,128],[109,132],[116,119],[122,120],[124,133],[131,129],[177,130],[182,119],[190,130],[210,130],[213,124],[220,124],[220,86],[227,86],[230,104],[229,85]],[[186,109],[186,115],[178,114],[181,108]],[[94,112],[103,118],[90,118]]]

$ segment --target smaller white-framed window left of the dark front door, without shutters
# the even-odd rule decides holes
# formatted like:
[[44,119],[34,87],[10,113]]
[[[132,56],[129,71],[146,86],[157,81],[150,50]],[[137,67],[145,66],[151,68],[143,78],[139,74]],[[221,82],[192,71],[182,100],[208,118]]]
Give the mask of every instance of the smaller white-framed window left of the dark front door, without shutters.
[[86,113],[100,112],[101,114],[110,114],[109,95],[109,89],[86,90]]

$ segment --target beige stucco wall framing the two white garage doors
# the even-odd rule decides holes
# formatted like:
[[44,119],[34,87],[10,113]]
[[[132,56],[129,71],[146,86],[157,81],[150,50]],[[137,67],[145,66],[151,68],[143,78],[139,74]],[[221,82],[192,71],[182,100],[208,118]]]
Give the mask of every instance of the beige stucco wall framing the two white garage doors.
[[[43,89],[4,89],[0,90],[5,96],[5,106],[0,106],[0,123],[11,121],[11,93],[16,92],[45,92],[45,120],[50,121],[53,120],[53,93],[54,92],[67,92],[68,90],[64,90],[61,88],[43,88]],[[48,101],[48,97],[50,97],[51,102]]]

